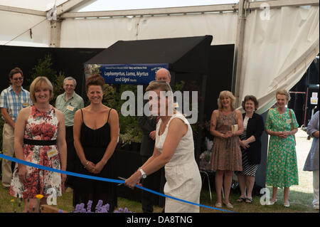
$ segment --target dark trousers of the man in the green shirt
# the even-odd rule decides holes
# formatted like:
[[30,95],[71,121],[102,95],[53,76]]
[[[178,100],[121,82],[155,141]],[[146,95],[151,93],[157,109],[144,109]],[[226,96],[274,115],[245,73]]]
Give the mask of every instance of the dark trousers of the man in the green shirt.
[[[75,152],[75,145],[73,144],[73,126],[65,127],[65,142],[67,142],[67,171],[74,172],[77,153]],[[74,180],[75,176],[68,175],[65,181],[65,185],[73,188]]]

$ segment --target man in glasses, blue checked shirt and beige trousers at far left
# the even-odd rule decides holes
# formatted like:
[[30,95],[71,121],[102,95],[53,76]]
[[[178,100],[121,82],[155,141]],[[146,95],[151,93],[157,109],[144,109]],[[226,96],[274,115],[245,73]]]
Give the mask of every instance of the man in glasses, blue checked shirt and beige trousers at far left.
[[[4,154],[14,156],[14,125],[18,112],[22,108],[32,105],[30,93],[22,88],[23,73],[18,67],[14,68],[9,73],[11,85],[4,89],[0,95],[1,115],[4,119],[4,128],[2,131],[2,151]],[[9,189],[11,184],[11,162],[2,159],[2,186],[4,189]]]

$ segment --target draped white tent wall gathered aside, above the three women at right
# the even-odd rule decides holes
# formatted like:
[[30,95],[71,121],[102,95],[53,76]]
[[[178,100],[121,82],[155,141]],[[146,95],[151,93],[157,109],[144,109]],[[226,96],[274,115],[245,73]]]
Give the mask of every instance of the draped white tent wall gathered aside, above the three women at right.
[[289,90],[319,53],[319,6],[284,6],[247,15],[239,100],[255,95],[259,112],[275,103],[277,89]]

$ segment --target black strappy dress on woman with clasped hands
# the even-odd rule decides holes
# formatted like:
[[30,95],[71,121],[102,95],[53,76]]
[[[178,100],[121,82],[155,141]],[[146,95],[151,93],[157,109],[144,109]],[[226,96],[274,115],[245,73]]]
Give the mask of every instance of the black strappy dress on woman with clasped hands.
[[[81,110],[82,125],[80,132],[80,142],[85,153],[85,158],[88,161],[93,162],[94,164],[100,162],[103,155],[105,154],[108,144],[110,143],[110,111],[105,125],[96,130],[92,130],[90,127],[87,127],[87,125],[85,125],[85,122],[83,121],[83,112]],[[103,167],[102,171],[100,171],[99,174],[92,174],[89,171],[87,171],[87,169],[85,169],[81,164],[79,157],[77,159],[75,169],[76,172],[78,172],[79,174],[100,176],[111,179],[116,178],[114,155],[110,157],[107,164],[105,164],[105,167]],[[103,201],[103,205],[109,204],[109,212],[113,212],[114,206],[117,206],[116,184],[106,181],[96,181],[76,177],[73,189],[73,206],[80,203],[84,203],[86,207],[87,202],[91,200],[91,211],[95,212],[95,206],[97,205],[97,201],[99,201],[100,199]]]

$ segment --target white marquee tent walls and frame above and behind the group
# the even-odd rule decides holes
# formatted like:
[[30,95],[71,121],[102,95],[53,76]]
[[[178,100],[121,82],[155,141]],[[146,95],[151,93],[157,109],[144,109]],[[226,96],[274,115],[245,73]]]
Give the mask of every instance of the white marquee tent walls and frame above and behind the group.
[[92,2],[0,0],[0,45],[107,48],[119,40],[212,35],[212,45],[235,44],[233,92],[238,100],[258,97],[260,113],[319,53],[317,0],[80,11]]

